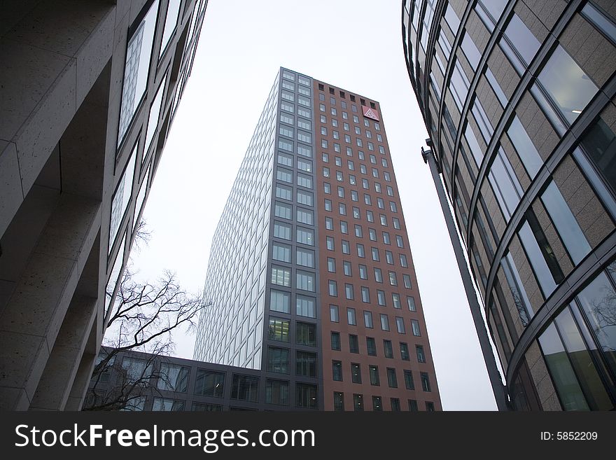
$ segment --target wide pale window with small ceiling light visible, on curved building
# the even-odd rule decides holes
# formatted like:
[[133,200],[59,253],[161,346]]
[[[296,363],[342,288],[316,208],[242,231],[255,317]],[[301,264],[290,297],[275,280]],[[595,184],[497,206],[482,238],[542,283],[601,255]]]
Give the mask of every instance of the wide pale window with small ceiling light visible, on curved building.
[[598,90],[561,46],[556,46],[538,80],[568,123],[575,121]]

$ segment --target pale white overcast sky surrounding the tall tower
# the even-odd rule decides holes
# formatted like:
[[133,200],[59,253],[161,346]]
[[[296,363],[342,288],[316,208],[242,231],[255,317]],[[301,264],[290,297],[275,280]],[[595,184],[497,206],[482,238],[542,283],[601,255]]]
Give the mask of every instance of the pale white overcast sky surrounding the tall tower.
[[[402,52],[400,0],[210,0],[134,250],[144,279],[200,291],[211,238],[279,67],[380,102],[444,410],[495,410]],[[193,357],[194,335],[176,334]]]

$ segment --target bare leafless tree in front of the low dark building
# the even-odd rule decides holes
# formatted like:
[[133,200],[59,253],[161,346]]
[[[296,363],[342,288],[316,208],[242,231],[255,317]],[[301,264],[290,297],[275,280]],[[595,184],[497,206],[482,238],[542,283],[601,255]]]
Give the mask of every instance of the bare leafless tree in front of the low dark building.
[[[141,223],[139,228],[141,241],[147,242],[150,232]],[[155,369],[155,358],[173,351],[175,331],[190,333],[195,329],[206,306],[201,295],[184,291],[172,272],[165,271],[154,283],[140,283],[130,265],[126,267],[106,323],[105,347],[94,365],[84,410],[130,410],[140,398],[155,391],[155,379],[166,378]],[[142,351],[148,358],[125,358],[118,363],[116,356],[125,351]],[[107,388],[111,375],[115,381]]]

